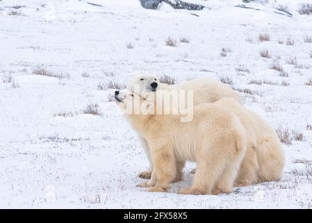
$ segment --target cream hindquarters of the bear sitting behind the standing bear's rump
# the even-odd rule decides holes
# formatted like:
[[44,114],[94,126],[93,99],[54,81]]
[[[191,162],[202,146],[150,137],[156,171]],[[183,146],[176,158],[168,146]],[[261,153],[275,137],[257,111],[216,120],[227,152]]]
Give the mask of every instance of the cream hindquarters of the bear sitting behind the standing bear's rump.
[[236,114],[247,132],[247,152],[236,185],[280,180],[284,169],[284,151],[277,132],[261,116],[232,98],[223,98],[214,104]]

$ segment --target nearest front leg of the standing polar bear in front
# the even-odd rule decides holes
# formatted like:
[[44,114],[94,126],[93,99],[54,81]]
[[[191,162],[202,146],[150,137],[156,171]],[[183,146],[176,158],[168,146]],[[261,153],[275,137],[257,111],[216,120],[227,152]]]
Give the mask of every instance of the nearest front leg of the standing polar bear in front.
[[149,192],[167,192],[170,183],[176,178],[176,160],[173,149],[169,146],[151,148],[151,158],[154,163],[156,185]]

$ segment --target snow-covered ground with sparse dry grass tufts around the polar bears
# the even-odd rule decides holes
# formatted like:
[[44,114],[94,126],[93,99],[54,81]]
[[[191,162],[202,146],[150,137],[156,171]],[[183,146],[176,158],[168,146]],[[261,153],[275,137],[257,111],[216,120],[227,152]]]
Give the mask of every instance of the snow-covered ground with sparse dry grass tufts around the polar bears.
[[[207,8],[0,1],[0,208],[312,208],[312,15],[297,13],[312,1],[247,5],[261,10],[235,7],[238,0],[190,2]],[[279,3],[293,17],[274,13]],[[192,181],[188,164],[168,193],[136,187],[147,158],[106,85],[140,73],[229,77],[246,92],[245,105],[291,141],[283,180],[178,195]]]

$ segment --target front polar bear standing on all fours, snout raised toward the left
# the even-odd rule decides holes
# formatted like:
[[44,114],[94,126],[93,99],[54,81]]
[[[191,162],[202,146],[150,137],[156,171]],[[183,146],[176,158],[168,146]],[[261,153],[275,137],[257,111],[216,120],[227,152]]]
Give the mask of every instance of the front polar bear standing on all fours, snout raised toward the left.
[[[138,105],[147,113],[128,113]],[[149,192],[166,192],[179,176],[186,160],[195,161],[192,185],[180,194],[231,192],[247,148],[246,132],[231,110],[213,103],[191,107],[191,122],[181,122],[181,114],[154,114],[158,102],[139,95],[115,91],[115,101],[147,144],[154,169],[151,179],[140,186]],[[126,110],[125,110],[126,108]],[[178,179],[179,180],[179,179]]]

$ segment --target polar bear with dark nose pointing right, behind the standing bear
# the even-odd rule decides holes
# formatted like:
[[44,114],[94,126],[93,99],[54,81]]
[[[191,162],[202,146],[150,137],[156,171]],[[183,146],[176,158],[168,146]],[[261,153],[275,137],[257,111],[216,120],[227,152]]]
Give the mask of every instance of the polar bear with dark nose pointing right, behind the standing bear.
[[[159,79],[153,75],[137,75],[129,79],[127,84],[127,89],[132,93],[135,93],[136,86],[139,91],[140,96],[146,95],[146,93],[157,91],[157,90],[192,90],[193,91],[193,106],[201,105],[204,103],[216,102],[222,98],[233,98],[238,103],[243,105],[243,102],[240,98],[240,95],[233,91],[229,86],[221,82],[217,82],[213,79],[202,78],[202,79],[193,79],[188,82],[183,82],[181,84],[162,84],[159,82]],[[136,92],[137,93],[137,92]],[[140,178],[151,178],[151,172],[153,171],[153,162],[151,162],[151,157],[149,154],[149,146],[147,141],[140,132],[138,137],[140,143],[145,150],[147,158],[149,159],[149,169],[147,171],[142,171],[138,175]]]

